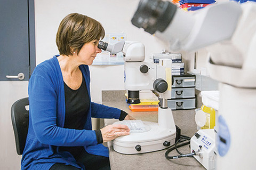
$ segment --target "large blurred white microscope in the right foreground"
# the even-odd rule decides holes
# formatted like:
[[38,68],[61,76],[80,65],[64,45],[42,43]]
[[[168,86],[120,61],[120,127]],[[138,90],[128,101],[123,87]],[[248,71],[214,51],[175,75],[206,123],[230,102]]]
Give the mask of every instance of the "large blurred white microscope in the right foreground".
[[220,82],[217,169],[256,165],[255,18],[255,2],[216,3],[186,13],[161,0],[141,0],[132,18],[133,25],[170,43],[171,50],[209,51],[210,76]]

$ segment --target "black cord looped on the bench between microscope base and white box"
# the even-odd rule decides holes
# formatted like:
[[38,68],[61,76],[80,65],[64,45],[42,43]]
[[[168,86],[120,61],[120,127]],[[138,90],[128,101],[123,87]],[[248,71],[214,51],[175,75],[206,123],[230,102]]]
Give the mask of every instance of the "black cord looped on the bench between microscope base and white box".
[[[185,146],[185,145],[187,145],[187,144],[190,143],[190,137],[184,136],[184,135],[180,135],[180,136],[181,136],[181,138],[180,138],[177,142],[175,142],[174,147],[168,149],[168,150],[165,152],[165,157],[166,157],[167,159],[176,159],[176,158],[182,158],[182,157],[193,157],[193,155],[196,155],[196,152],[195,152],[195,151],[193,151],[192,153],[183,154],[183,153],[181,153],[181,152],[178,150],[178,148],[183,147],[183,146]],[[187,141],[187,140],[189,140],[189,142],[186,142],[186,143],[182,143],[182,144],[177,145],[179,142],[185,142],[185,141]],[[168,156],[168,154],[169,154],[171,151],[173,151],[174,149],[175,149],[180,155],[178,155],[178,156]]]

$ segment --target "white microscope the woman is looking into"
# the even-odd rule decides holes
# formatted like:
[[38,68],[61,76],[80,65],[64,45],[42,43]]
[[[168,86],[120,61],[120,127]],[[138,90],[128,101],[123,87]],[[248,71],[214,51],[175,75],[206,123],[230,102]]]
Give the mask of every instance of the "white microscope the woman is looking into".
[[145,46],[139,42],[121,41],[111,45],[100,41],[98,47],[111,54],[121,51],[124,53],[127,103],[140,103],[141,90],[154,91],[161,103],[158,108],[158,123],[143,122],[145,131],[118,137],[113,141],[114,150],[135,154],[162,150],[173,145],[176,126],[172,110],[167,107],[167,99],[171,98],[172,60],[161,60],[159,64],[144,61]]

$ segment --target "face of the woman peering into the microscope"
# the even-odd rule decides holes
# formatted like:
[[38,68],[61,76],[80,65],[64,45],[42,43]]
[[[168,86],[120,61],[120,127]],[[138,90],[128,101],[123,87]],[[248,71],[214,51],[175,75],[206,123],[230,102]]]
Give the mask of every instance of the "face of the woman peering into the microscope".
[[78,53],[79,61],[82,64],[91,65],[98,53],[101,53],[100,48],[98,48],[99,40],[95,39],[94,41],[85,43],[81,50]]

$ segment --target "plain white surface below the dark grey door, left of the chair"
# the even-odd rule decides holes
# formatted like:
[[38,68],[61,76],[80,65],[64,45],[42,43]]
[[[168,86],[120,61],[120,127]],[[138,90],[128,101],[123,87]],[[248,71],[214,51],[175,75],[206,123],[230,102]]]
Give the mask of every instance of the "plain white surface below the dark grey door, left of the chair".
[[18,170],[20,160],[16,152],[14,133],[11,122],[12,104],[28,96],[28,81],[0,82],[0,169]]

